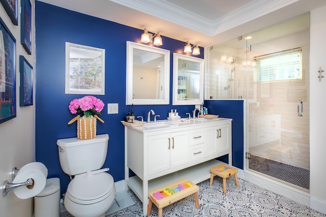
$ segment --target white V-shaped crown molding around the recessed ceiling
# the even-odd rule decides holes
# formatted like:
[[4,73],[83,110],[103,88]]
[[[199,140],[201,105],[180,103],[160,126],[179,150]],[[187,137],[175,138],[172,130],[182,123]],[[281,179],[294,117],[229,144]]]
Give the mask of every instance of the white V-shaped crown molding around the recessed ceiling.
[[134,10],[214,36],[300,0],[257,0],[216,20],[209,20],[165,0],[110,0]]

